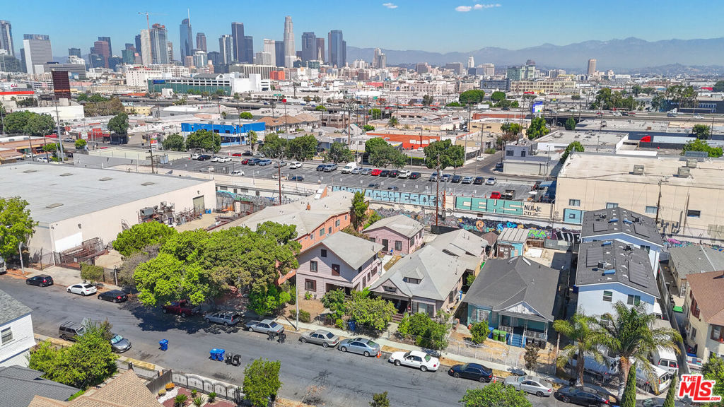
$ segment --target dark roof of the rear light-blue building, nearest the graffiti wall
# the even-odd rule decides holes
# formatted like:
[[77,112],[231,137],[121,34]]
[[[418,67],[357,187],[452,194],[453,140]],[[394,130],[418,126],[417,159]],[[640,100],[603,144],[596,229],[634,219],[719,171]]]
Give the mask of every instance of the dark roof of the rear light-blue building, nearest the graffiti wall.
[[625,233],[633,238],[646,240],[663,247],[664,241],[654,219],[620,206],[597,211],[586,211],[581,224],[581,238]]

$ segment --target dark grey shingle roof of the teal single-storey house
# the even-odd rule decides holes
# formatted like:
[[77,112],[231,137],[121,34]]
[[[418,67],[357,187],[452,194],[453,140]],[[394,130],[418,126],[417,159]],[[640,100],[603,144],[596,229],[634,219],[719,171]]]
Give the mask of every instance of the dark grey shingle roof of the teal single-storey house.
[[522,256],[488,259],[463,301],[489,306],[496,312],[524,302],[553,321],[559,275],[558,270]]

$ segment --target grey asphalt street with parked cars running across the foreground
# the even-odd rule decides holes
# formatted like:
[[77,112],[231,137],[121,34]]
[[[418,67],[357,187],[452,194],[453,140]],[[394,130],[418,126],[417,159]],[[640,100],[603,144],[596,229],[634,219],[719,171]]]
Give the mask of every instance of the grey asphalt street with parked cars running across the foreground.
[[[0,276],[0,288],[33,309],[36,333],[58,337],[62,322],[108,319],[114,332],[132,342],[132,349],[124,356],[165,368],[241,385],[243,367],[209,360],[211,348],[240,353],[243,364],[260,357],[279,360],[282,362],[280,379],[284,384],[279,395],[292,400],[301,400],[312,386],[318,386],[325,406],[366,407],[373,393],[384,391],[389,392],[392,406],[455,406],[466,389],[481,386],[478,382],[450,377],[445,366],[438,372],[423,373],[394,366],[384,355],[379,359],[365,358],[341,353],[336,348],[303,345],[293,332],[289,332],[286,343],[269,343],[266,336],[240,327],[206,324],[200,317],[180,319],[134,301],[122,304],[99,301],[95,295],[82,297],[66,293],[65,288],[58,285],[39,288],[4,275]],[[161,339],[169,340],[166,352],[159,351]],[[534,406],[567,406],[554,398],[531,395],[530,400]]]

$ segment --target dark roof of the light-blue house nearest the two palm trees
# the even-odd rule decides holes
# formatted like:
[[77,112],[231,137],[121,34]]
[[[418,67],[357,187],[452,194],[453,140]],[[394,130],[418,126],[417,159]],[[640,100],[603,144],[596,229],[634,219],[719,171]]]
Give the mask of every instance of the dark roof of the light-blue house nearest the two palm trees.
[[618,240],[581,243],[578,248],[576,286],[619,282],[659,298],[649,253]]

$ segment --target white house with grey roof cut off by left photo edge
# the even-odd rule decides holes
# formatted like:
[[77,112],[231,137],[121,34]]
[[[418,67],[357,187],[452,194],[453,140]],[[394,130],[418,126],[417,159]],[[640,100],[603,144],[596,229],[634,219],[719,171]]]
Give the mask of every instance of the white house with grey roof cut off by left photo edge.
[[32,310],[0,290],[0,367],[28,366],[30,348],[35,346]]

